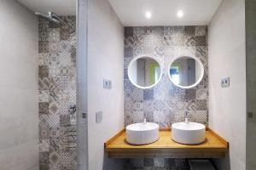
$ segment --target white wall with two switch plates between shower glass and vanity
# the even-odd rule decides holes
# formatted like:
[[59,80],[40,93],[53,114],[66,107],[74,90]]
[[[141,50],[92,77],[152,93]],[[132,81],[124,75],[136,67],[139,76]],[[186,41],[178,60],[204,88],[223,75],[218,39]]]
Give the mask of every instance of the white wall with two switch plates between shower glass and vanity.
[[[121,169],[104,156],[104,142],[124,127],[124,29],[107,0],[89,1],[88,144],[89,169]],[[103,78],[112,89],[104,89]],[[96,111],[103,120],[96,123]],[[113,166],[113,167],[112,167]]]

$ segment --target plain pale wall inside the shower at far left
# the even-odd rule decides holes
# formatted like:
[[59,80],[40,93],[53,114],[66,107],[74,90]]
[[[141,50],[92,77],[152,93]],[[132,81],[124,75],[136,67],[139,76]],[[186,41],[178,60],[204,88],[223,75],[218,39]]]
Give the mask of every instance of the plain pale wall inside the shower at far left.
[[38,169],[38,21],[0,1],[0,169]]

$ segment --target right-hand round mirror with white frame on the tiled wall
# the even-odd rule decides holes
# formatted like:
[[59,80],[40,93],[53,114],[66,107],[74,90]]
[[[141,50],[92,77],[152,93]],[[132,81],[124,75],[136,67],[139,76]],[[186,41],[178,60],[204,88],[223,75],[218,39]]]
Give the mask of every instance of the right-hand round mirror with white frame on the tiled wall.
[[194,88],[204,75],[204,66],[195,56],[179,56],[169,68],[171,81],[179,88]]

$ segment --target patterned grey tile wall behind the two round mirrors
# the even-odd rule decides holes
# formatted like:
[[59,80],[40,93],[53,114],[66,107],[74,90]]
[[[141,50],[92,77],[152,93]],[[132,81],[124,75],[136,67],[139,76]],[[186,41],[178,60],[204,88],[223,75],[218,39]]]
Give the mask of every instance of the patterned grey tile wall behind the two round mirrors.
[[[127,68],[139,54],[153,54],[163,65],[163,77],[150,89],[136,88],[128,79]],[[193,54],[204,65],[205,75],[198,86],[177,88],[169,79],[168,63],[177,55]],[[207,26],[125,27],[125,126],[134,122],[155,122],[170,127],[184,120],[208,123],[208,58]],[[189,170],[181,159],[128,159],[126,169]]]

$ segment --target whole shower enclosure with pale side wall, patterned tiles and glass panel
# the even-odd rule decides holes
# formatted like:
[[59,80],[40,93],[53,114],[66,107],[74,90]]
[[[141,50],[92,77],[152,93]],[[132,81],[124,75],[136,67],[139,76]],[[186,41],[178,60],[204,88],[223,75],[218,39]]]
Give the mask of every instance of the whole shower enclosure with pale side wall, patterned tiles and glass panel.
[[0,2],[1,170],[87,169],[86,7]]

